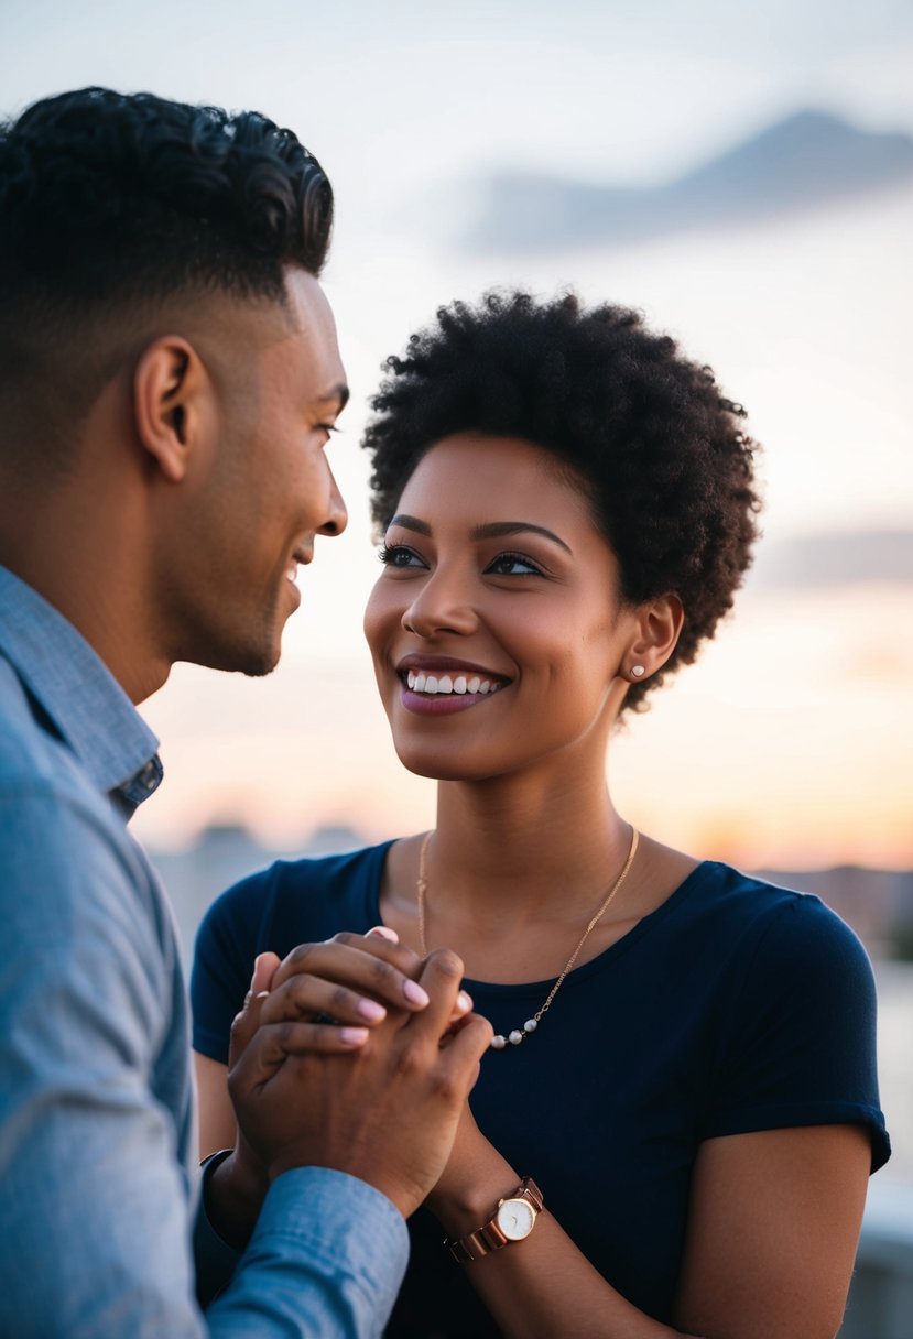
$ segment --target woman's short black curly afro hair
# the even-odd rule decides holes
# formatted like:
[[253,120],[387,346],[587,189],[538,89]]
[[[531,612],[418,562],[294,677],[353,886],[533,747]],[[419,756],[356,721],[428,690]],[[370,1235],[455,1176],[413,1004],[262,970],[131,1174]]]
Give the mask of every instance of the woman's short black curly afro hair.
[[742,584],[760,506],[744,410],[708,367],[637,312],[522,292],[442,307],[384,367],[364,438],[378,526],[434,443],[463,431],[523,438],[582,486],[618,558],[622,599],[676,593],[684,607],[673,655],[631,686],[625,706],[695,659]]

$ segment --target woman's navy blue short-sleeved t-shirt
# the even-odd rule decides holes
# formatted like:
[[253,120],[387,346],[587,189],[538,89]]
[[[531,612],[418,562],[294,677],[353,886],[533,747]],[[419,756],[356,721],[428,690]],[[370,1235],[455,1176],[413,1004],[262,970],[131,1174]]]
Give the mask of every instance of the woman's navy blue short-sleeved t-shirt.
[[[191,980],[198,1051],[228,1060],[257,953],[380,923],[388,846],[280,861],[213,904]],[[503,1034],[550,986],[466,981],[477,1012]],[[873,1170],[888,1160],[869,960],[817,897],[704,862],[568,976],[534,1036],[485,1056],[470,1102],[482,1133],[518,1176],[535,1178],[612,1287],[668,1324],[703,1139],[850,1122],[869,1129]],[[497,1335],[436,1220],[419,1209],[410,1229],[387,1334]]]

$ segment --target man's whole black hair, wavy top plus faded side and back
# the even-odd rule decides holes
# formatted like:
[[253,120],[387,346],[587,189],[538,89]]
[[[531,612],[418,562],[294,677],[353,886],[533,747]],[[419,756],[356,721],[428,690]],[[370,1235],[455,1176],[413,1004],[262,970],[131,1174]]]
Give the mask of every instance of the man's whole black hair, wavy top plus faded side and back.
[[320,273],[332,220],[317,159],[256,111],[82,88],[0,122],[0,419],[54,398],[66,438],[143,313],[282,304],[286,266]]

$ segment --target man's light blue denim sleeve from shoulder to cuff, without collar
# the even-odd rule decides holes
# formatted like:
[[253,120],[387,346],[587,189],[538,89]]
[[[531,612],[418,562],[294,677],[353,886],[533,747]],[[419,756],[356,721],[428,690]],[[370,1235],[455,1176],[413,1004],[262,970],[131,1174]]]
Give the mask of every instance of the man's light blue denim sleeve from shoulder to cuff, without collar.
[[202,1315],[179,1101],[187,1036],[173,1035],[182,987],[129,840],[120,848],[100,813],[60,797],[7,793],[0,850],[0,1332],[378,1335],[406,1225],[379,1192],[323,1169],[276,1181],[229,1288]]

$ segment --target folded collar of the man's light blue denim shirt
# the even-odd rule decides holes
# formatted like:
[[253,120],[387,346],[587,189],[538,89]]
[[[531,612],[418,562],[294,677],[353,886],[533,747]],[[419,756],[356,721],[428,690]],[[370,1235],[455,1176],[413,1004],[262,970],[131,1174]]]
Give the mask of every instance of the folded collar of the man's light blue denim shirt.
[[0,655],[51,718],[92,783],[129,817],[162,779],[158,739],[86,639],[4,566]]

